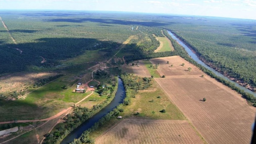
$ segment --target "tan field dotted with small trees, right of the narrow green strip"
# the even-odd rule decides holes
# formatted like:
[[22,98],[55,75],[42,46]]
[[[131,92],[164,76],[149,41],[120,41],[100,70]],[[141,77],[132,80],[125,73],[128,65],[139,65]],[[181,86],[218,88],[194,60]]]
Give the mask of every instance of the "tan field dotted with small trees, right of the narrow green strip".
[[[174,76],[174,75],[205,75],[202,71],[200,71],[197,67],[195,67],[193,64],[190,64],[180,56],[168,56],[163,58],[152,58],[150,59],[152,64],[158,64],[157,71],[159,74],[165,75],[165,76]],[[167,64],[167,61],[169,61],[169,64]],[[181,66],[181,64],[184,63],[184,66]],[[171,67],[173,65],[173,67]],[[192,68],[192,70],[189,72],[188,68]]]

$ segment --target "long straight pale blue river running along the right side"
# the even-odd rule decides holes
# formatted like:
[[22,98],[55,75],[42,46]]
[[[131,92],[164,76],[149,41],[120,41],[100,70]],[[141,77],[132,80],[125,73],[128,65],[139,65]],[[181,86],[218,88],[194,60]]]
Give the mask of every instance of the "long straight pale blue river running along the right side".
[[247,89],[247,88],[245,88],[245,87],[239,85],[238,83],[236,83],[236,82],[230,80],[230,79],[227,78],[226,76],[222,75],[220,72],[216,71],[215,69],[213,69],[213,68],[209,67],[208,65],[206,65],[205,63],[203,63],[203,61],[201,61],[201,60],[197,57],[197,55],[196,55],[195,53],[193,53],[192,50],[191,50],[187,45],[185,45],[180,39],[178,39],[177,37],[175,37],[175,36],[173,35],[173,33],[171,33],[170,31],[167,31],[167,32],[168,32],[168,34],[170,34],[170,36],[171,36],[173,39],[175,39],[175,40],[187,51],[187,53],[189,54],[189,56],[190,56],[193,60],[195,60],[198,64],[201,64],[203,67],[205,67],[205,68],[211,70],[215,75],[217,75],[217,76],[219,76],[219,77],[222,77],[222,78],[225,78],[225,80],[228,80],[229,82],[234,83],[234,84],[235,84],[237,87],[239,87],[240,89],[242,89],[242,90],[244,90],[245,92],[248,92],[248,93],[250,93],[250,94],[252,94],[252,95],[254,95],[254,96],[256,97],[256,93],[254,93],[253,91],[251,91],[251,90],[249,90],[249,89]]

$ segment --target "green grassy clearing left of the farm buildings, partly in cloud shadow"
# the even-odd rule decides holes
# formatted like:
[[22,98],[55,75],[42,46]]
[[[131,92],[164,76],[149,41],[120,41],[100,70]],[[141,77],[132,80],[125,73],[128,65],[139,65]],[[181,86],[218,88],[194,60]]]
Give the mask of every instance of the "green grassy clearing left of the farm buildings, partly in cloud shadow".
[[[0,121],[13,121],[48,118],[62,109],[83,99],[87,93],[73,93],[75,81],[63,81],[67,75],[46,84],[26,96],[25,99],[15,101],[0,100]],[[66,85],[67,89],[63,89]]]

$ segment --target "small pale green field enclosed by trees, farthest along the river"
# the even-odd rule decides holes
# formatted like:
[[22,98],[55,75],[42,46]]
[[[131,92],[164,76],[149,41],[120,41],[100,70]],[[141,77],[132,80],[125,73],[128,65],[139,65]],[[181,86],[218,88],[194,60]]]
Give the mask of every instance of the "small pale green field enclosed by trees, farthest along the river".
[[155,53],[174,50],[172,42],[167,37],[156,37],[155,35],[154,37],[160,42],[160,46],[154,50]]

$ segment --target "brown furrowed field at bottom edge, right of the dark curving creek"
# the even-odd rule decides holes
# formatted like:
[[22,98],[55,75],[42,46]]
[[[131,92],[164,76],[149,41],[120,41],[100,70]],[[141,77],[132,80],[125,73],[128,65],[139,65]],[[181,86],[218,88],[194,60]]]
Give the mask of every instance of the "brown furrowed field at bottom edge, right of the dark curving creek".
[[124,119],[105,134],[96,144],[157,144],[157,143],[203,143],[187,121]]

